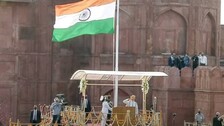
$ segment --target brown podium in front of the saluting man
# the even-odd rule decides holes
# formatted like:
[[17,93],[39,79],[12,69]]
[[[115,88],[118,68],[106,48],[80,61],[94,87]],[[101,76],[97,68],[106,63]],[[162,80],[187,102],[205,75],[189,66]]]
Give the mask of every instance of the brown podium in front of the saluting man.
[[[130,111],[130,120],[126,119],[125,122],[125,117],[128,110]],[[117,121],[115,121],[112,126],[118,126],[118,125],[130,126],[131,124],[133,125],[135,124],[135,107],[125,107],[125,106],[114,107],[112,111],[112,117],[115,119],[115,116],[117,116]]]

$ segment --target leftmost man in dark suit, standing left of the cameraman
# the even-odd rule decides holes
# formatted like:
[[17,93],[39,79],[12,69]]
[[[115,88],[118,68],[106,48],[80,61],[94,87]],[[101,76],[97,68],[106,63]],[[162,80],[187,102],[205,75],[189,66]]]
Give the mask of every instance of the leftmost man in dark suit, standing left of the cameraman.
[[35,124],[40,122],[41,122],[41,112],[40,110],[37,109],[37,105],[34,105],[33,110],[30,113],[30,123]]

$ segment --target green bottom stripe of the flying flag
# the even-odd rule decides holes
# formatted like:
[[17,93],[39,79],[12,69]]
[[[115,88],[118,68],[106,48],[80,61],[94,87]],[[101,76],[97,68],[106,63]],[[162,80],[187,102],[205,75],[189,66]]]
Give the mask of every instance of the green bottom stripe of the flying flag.
[[94,35],[101,33],[114,33],[114,18],[79,22],[69,28],[55,28],[53,31],[52,41],[62,42],[80,35]]

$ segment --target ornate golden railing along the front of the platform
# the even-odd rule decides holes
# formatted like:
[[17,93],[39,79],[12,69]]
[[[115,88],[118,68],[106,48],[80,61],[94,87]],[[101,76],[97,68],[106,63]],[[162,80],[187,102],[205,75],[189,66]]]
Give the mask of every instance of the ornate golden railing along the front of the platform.
[[[51,111],[46,107],[45,114],[42,115],[42,121],[36,126],[50,126],[52,121]],[[125,115],[122,119],[119,118],[119,114]],[[92,126],[99,126],[102,120],[102,113],[95,111],[93,108],[91,112],[86,115],[85,112],[81,111],[78,107],[65,106],[64,111],[61,113],[61,124],[55,124],[54,126],[85,126],[89,124]],[[111,119],[107,120],[112,126],[162,126],[161,113],[147,111],[146,114],[139,114],[134,116],[131,115],[130,110],[126,113],[112,114]],[[9,126],[32,126],[31,123],[20,123],[12,122],[10,119]],[[186,125],[191,126],[191,125]],[[194,126],[194,125],[192,125]]]

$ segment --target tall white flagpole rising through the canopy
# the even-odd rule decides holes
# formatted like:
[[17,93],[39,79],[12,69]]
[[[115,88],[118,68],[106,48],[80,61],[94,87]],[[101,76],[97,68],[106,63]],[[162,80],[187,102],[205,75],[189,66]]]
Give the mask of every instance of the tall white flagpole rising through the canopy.
[[[120,0],[116,2],[116,52],[115,52],[115,71],[118,71],[118,56],[119,56],[119,6]],[[115,87],[114,87],[114,107],[117,107],[118,102],[118,76],[115,77]]]

